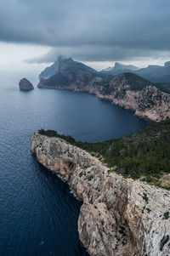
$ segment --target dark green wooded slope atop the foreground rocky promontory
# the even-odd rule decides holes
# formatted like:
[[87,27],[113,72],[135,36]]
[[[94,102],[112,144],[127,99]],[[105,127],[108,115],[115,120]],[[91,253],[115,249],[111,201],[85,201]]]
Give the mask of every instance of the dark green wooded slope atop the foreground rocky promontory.
[[40,130],[39,133],[50,137],[56,136],[77,145],[102,159],[111,171],[125,177],[161,185],[162,175],[170,174],[169,119],[141,128],[137,134],[131,133],[120,139],[98,143],[75,141],[71,136],[59,135],[50,130]]

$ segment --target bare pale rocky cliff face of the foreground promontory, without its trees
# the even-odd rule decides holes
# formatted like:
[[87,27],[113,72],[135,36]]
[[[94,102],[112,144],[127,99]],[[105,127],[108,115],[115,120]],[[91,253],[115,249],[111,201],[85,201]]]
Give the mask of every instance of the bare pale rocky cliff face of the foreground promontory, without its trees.
[[35,132],[31,152],[82,199],[78,231],[90,255],[169,255],[169,191],[110,173],[63,139]]

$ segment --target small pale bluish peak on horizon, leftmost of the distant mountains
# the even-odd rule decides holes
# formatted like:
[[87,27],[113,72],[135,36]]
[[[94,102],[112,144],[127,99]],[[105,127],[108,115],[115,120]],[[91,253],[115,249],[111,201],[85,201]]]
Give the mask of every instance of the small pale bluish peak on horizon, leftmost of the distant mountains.
[[135,65],[123,65],[119,62],[116,62],[113,67],[106,68],[101,71],[105,74],[110,74],[112,76],[116,76],[125,72],[137,71],[139,68]]

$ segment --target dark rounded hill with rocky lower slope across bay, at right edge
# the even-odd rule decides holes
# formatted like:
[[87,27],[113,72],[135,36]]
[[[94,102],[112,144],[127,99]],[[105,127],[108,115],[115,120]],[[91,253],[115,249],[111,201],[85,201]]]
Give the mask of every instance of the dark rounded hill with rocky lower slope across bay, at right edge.
[[170,94],[162,92],[148,80],[132,73],[114,77],[99,89],[100,99],[135,111],[135,115],[152,121],[170,117]]

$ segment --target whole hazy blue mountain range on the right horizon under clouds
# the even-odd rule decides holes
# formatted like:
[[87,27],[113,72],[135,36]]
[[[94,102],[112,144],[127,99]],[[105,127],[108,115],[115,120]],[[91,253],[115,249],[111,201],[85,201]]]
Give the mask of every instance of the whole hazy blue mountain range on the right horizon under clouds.
[[134,65],[122,65],[116,62],[114,67],[107,68],[101,72],[116,76],[129,71],[151,82],[170,82],[170,61],[165,62],[164,65],[148,65],[148,67],[141,69]]

